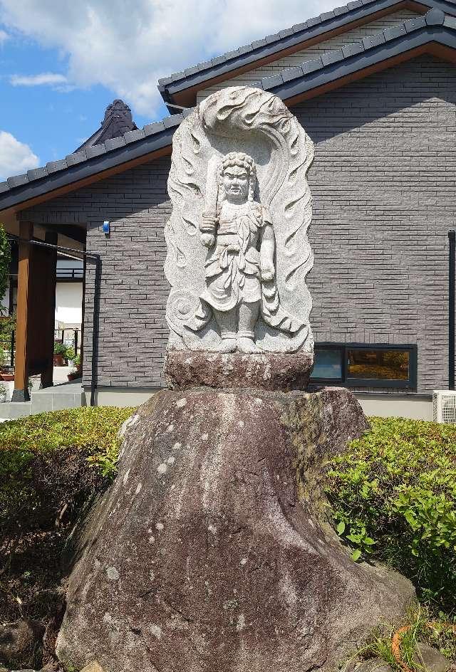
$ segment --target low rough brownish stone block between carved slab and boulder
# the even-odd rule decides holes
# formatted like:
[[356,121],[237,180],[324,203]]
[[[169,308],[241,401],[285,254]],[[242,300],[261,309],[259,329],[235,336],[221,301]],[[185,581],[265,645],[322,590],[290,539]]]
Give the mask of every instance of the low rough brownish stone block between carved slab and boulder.
[[171,389],[251,387],[290,392],[306,389],[313,365],[312,352],[294,355],[232,352],[221,355],[218,352],[168,350],[165,378]]

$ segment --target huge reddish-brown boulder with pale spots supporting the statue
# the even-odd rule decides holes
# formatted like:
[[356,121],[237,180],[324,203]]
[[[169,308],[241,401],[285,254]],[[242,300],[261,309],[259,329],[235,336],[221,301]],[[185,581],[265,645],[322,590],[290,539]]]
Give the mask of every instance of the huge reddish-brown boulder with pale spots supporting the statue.
[[324,522],[322,463],[366,429],[345,389],[164,391],[125,431],[58,656],[106,672],[335,672],[411,584]]

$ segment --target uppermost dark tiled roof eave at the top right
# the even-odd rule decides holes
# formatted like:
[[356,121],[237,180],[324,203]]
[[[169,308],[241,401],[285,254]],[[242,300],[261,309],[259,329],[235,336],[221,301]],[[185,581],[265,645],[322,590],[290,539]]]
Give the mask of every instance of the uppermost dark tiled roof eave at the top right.
[[441,9],[446,14],[456,15],[454,0],[354,0],[346,6],[325,12],[288,30],[266,36],[263,40],[162,78],[159,80],[158,89],[167,104],[195,105],[197,90],[206,88],[211,83],[227,80],[239,70],[242,72],[253,70],[258,67],[259,61],[270,63],[281,58],[284,52],[299,51],[306,44],[322,41],[327,38],[328,33],[337,34],[346,31],[351,23],[367,23],[373,20],[374,14],[388,14],[402,6],[415,8],[423,13],[427,9],[435,8]]

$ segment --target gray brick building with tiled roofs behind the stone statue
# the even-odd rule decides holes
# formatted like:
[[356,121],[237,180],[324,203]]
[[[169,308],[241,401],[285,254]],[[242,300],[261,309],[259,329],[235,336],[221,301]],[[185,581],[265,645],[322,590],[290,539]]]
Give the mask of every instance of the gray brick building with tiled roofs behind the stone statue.
[[2,182],[19,246],[10,415],[58,407],[56,387],[31,409],[28,378],[52,383],[65,250],[83,259],[82,388],[67,396],[130,406],[164,386],[172,137],[208,95],[248,85],[281,98],[315,144],[313,383],[350,387],[368,414],[431,419],[452,368],[455,64],[454,1],[351,1],[160,80],[160,122],[138,129],[115,100],[76,152]]

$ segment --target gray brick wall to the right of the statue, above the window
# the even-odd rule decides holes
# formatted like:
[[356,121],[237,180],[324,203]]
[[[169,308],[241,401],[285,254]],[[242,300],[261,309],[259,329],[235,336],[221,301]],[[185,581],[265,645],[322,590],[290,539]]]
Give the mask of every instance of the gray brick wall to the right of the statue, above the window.
[[316,143],[316,340],[418,344],[418,392],[447,382],[456,70],[423,57],[296,107]]

